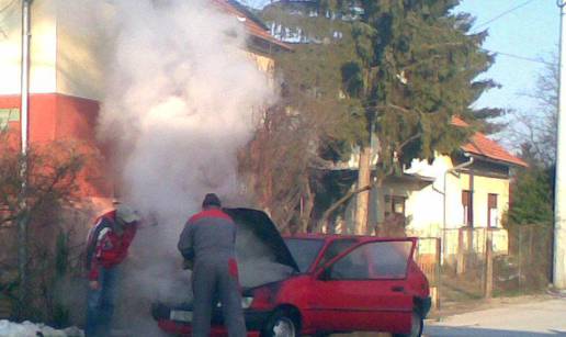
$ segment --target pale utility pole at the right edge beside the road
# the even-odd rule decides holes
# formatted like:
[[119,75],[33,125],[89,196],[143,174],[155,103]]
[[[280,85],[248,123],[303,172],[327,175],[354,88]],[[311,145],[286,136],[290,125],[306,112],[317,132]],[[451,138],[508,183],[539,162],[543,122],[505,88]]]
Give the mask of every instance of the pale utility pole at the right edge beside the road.
[[558,126],[556,144],[556,188],[554,201],[553,282],[566,290],[566,0],[557,0],[561,9],[561,60],[558,92]]

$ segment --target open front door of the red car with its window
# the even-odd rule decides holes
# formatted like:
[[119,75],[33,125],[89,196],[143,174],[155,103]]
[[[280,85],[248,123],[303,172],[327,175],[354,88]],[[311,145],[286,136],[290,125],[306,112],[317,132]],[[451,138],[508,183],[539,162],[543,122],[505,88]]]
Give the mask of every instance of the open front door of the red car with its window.
[[312,303],[322,332],[407,333],[412,297],[407,288],[415,239],[374,239],[355,245],[319,270]]

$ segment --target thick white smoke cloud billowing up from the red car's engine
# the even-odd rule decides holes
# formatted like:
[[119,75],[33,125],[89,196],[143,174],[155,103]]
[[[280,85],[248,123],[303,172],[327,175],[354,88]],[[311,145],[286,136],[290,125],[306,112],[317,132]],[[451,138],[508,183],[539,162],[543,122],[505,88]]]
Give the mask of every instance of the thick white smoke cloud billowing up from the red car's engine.
[[[94,11],[100,3],[81,1]],[[122,199],[158,222],[138,231],[123,295],[146,307],[155,300],[182,302],[190,294],[179,234],[206,192],[237,200],[237,151],[252,136],[253,112],[273,93],[245,52],[241,22],[211,1],[104,5],[111,14],[97,23],[106,42],[99,136],[113,149]],[[137,310],[144,317],[129,313],[126,321],[156,325],[146,308]]]

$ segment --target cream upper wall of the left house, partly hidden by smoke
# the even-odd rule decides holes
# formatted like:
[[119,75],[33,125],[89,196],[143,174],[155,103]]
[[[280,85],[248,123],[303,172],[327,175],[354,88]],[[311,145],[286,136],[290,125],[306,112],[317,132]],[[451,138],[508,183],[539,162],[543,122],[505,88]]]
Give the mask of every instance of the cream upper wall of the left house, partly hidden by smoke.
[[[30,46],[32,93],[63,93],[100,101],[103,98],[103,66],[112,53],[104,37],[115,14],[112,4],[89,7],[83,0],[34,0]],[[0,0],[0,94],[21,90],[21,1]],[[245,52],[258,68],[273,76],[273,59]]]

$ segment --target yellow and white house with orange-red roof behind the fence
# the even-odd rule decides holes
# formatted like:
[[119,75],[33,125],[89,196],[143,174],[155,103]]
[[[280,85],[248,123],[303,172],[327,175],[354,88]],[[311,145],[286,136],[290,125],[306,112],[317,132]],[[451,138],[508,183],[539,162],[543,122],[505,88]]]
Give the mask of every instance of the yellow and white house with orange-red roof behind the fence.
[[[454,117],[452,124],[471,127],[461,117]],[[355,165],[351,160],[350,169],[356,170]],[[378,234],[387,234],[392,218],[401,218],[408,235],[442,238],[446,258],[455,258],[459,240],[483,251],[485,235],[490,231],[494,250],[506,252],[502,218],[509,207],[511,170],[521,167],[527,167],[523,160],[474,132],[455,154],[438,154],[432,162],[415,159],[403,176],[389,177],[374,188],[369,225]],[[339,232],[353,232],[354,212],[355,199],[348,205]]]

